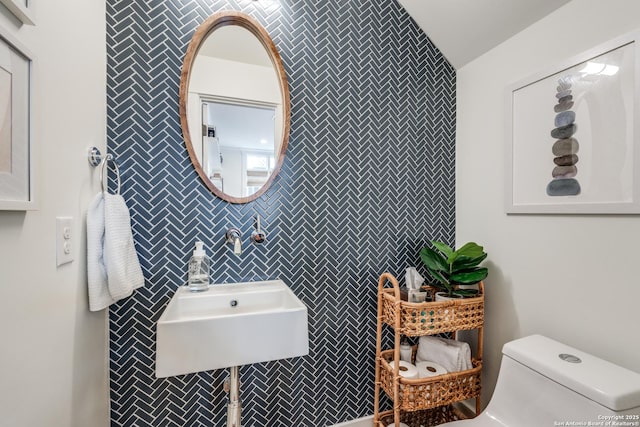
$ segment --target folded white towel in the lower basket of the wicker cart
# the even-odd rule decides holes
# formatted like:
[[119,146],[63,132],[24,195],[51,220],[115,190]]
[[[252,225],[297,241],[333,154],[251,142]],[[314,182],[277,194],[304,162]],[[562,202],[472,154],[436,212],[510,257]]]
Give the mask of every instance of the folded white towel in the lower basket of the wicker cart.
[[442,365],[448,372],[466,371],[473,367],[468,343],[440,337],[420,337],[416,363],[424,361]]

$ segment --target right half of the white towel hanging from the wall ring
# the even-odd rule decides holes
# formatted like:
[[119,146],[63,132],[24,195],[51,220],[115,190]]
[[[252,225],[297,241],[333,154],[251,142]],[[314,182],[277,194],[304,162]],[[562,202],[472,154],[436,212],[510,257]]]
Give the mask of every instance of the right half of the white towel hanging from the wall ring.
[[142,268],[133,245],[131,218],[119,194],[104,194],[104,262],[111,298],[118,301],[144,285]]

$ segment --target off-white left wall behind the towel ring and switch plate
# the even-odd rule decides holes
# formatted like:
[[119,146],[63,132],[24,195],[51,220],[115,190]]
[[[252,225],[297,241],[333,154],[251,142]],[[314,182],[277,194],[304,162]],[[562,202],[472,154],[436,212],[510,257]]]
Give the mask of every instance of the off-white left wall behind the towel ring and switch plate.
[[[0,426],[109,424],[106,313],[88,311],[84,216],[99,188],[86,157],[105,150],[104,2],[32,2],[36,26],[0,6],[34,53],[40,210],[0,212]],[[56,267],[56,216],[72,216],[75,261]]]

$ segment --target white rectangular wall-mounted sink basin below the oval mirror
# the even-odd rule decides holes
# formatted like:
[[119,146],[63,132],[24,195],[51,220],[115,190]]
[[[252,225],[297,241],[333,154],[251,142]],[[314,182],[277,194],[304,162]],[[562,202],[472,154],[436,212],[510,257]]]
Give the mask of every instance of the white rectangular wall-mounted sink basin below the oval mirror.
[[307,307],[282,280],[181,286],[158,320],[158,378],[306,354]]

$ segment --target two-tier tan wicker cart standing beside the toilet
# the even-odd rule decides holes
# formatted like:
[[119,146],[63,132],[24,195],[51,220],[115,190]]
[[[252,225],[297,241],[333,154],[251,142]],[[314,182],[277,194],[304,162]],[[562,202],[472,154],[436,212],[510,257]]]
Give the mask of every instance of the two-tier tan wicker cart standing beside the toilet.
[[[392,287],[385,288],[387,283]],[[427,288],[429,289],[429,288]],[[382,351],[382,324],[395,331],[394,348]],[[432,426],[465,416],[452,404],[475,398],[480,413],[480,372],[482,370],[482,334],[484,324],[484,284],[474,298],[453,301],[410,303],[400,297],[396,278],[383,273],[378,281],[378,330],[376,340],[376,380],[374,426]],[[478,331],[478,346],[472,369],[429,378],[400,376],[400,337],[417,337],[457,331]],[[416,347],[413,348],[415,360]],[[395,361],[393,367],[390,363]],[[393,410],[380,412],[380,389],[393,400]]]

